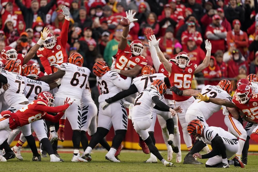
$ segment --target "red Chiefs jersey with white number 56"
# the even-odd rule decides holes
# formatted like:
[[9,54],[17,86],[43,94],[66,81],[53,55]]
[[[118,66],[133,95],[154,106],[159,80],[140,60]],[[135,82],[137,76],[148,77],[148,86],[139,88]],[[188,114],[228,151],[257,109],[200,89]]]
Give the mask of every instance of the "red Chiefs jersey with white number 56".
[[[195,63],[191,63],[186,68],[182,69],[173,62],[171,75],[169,77],[170,85],[176,86],[180,90],[191,89],[191,82],[196,68],[197,64]],[[190,97],[191,96],[179,96],[173,92],[173,98],[178,102],[186,101]]]

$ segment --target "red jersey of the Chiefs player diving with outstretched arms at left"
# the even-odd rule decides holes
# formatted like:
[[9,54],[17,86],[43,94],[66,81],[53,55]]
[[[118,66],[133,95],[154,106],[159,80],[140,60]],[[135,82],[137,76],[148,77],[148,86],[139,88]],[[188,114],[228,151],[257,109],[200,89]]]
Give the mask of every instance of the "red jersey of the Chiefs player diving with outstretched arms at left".
[[[45,100],[34,100],[28,106],[18,110],[15,113],[11,113],[10,111],[3,111],[1,115],[9,114],[11,117],[9,119],[10,128],[14,129],[17,127],[22,127],[27,125],[35,120],[46,119],[50,121],[58,121],[62,116],[64,110],[69,107],[69,104],[65,104],[57,107],[49,107]],[[46,112],[58,113],[57,116],[52,116],[47,114]],[[59,118],[59,119],[58,119]]]

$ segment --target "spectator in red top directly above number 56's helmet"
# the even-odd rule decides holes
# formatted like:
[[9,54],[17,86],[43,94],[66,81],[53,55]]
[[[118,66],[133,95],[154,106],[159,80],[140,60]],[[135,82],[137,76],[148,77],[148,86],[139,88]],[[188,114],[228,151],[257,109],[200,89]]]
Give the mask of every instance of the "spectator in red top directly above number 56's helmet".
[[188,37],[187,48],[183,49],[190,57],[190,63],[195,63],[197,65],[205,58],[205,52],[198,46],[196,46],[195,40],[193,37]]

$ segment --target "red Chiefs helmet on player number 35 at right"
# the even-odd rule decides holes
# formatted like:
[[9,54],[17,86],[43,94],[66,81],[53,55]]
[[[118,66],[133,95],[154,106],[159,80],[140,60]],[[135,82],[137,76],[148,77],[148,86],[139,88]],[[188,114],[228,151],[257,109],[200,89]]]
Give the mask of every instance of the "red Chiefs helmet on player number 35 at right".
[[237,96],[238,102],[241,104],[248,102],[252,95],[252,88],[247,84],[240,85],[235,92],[235,96]]

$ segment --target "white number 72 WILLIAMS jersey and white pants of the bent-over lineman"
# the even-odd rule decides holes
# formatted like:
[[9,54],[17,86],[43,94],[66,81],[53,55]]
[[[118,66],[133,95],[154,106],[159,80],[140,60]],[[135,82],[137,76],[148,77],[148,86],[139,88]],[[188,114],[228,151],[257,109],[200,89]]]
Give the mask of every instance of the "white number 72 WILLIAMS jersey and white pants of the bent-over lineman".
[[[201,94],[205,95],[207,94],[208,97],[211,98],[219,98],[219,99],[226,99],[228,101],[231,101],[231,96],[224,90],[222,90],[220,87],[212,86],[212,85],[206,85],[202,90]],[[196,99],[187,109],[187,113],[190,113],[194,116],[204,116],[205,120],[207,120],[209,117],[212,116],[214,112],[217,112],[220,110],[221,105],[217,105],[215,103],[211,102],[204,102],[201,101],[198,103],[198,99]]]

